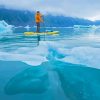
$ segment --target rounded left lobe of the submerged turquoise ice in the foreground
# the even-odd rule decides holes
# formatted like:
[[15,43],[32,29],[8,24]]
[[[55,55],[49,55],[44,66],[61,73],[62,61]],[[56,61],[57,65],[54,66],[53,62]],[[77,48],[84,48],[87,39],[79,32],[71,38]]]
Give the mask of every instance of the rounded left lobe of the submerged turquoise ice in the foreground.
[[7,94],[44,93],[48,82],[48,73],[43,67],[31,67],[12,78],[5,91]]

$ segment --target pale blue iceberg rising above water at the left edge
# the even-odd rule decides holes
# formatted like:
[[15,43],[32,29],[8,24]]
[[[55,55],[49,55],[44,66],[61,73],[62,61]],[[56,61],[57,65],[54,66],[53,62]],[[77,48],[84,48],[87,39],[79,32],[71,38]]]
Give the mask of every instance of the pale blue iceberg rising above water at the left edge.
[[8,25],[4,20],[0,21],[0,34],[12,32],[12,25]]

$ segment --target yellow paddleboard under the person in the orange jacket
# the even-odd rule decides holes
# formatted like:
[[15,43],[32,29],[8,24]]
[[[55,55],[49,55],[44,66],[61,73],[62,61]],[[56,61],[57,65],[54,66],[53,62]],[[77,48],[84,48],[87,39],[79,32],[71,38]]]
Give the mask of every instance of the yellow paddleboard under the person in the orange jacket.
[[55,35],[55,34],[59,34],[59,31],[41,32],[41,33],[37,33],[37,32],[24,32],[25,36],[33,36],[33,35]]

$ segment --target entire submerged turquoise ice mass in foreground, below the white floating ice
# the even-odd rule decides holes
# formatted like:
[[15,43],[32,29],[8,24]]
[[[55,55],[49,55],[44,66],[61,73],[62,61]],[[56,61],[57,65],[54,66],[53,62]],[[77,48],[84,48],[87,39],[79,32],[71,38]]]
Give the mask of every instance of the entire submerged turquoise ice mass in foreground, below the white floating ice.
[[43,100],[100,100],[99,76],[100,70],[84,65],[44,62],[15,75],[6,84],[5,93],[42,93]]

